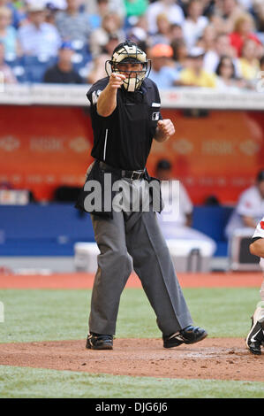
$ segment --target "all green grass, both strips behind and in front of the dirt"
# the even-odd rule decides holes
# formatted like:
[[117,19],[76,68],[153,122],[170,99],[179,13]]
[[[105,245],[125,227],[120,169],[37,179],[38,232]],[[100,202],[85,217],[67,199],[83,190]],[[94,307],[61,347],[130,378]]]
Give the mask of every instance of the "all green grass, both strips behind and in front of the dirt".
[[[195,324],[209,336],[245,337],[258,288],[184,289]],[[90,290],[1,290],[0,343],[84,339]],[[125,289],[117,337],[160,337],[142,289]],[[0,397],[264,397],[264,383],[112,376],[0,366]]]

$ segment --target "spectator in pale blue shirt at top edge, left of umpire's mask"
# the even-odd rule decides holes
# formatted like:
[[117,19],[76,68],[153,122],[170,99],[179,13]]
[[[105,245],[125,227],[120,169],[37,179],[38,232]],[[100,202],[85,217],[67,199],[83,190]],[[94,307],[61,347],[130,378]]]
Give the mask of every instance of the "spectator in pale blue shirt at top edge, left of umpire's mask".
[[81,0],[67,0],[67,9],[57,12],[56,26],[64,41],[79,41],[87,44],[91,27],[89,15],[79,12]]

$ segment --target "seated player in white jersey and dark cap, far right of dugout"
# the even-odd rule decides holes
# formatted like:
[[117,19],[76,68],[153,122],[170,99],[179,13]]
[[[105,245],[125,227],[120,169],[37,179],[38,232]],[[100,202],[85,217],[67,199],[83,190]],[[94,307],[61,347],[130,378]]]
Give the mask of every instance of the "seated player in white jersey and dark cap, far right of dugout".
[[264,212],[264,169],[257,174],[255,185],[245,189],[230,216],[225,235],[230,239],[237,229],[249,228],[249,235],[262,219]]

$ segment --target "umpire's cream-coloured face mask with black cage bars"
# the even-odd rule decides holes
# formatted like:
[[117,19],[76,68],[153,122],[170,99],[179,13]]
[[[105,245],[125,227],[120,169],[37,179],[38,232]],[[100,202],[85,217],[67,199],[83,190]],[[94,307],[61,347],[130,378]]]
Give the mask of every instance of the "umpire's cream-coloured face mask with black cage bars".
[[[113,51],[112,58],[106,61],[106,73],[108,76],[111,73],[121,73],[118,65],[125,63],[142,65],[140,71],[125,71],[126,79],[122,87],[126,91],[134,92],[136,89],[140,89],[142,82],[148,77],[151,69],[151,61],[147,59],[146,53],[136,43],[126,41],[119,43]],[[133,74],[135,76],[132,76]]]

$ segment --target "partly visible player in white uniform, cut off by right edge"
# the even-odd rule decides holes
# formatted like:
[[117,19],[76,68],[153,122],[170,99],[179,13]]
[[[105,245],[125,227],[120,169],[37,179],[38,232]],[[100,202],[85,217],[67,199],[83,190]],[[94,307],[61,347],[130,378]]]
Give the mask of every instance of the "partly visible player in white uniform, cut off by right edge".
[[[260,257],[260,267],[264,272],[264,217],[260,220],[253,234],[250,252]],[[260,288],[260,302],[253,314],[252,327],[246,337],[246,346],[253,354],[261,354],[261,344],[264,346],[264,280]]]

